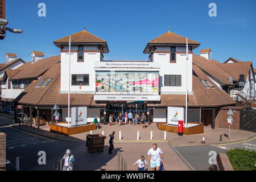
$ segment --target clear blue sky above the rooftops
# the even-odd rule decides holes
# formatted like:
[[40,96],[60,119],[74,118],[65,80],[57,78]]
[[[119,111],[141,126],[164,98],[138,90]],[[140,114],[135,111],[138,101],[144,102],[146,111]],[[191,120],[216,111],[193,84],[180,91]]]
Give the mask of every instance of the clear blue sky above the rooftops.
[[[46,17],[38,16],[38,4],[46,4]],[[209,3],[216,3],[217,16],[210,17]],[[147,60],[147,42],[170,31],[201,43],[193,50],[212,48],[212,59],[229,57],[253,61],[256,67],[256,1],[38,1],[6,0],[7,27],[22,34],[6,33],[0,40],[0,63],[6,52],[31,61],[32,51],[45,57],[59,55],[53,41],[85,30],[106,40],[105,60]]]

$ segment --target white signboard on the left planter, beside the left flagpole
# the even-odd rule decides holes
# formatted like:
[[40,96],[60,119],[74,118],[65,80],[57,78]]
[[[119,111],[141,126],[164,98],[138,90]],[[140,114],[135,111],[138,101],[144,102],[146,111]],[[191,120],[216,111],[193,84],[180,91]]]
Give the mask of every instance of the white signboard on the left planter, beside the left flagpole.
[[87,107],[71,107],[71,125],[87,124]]

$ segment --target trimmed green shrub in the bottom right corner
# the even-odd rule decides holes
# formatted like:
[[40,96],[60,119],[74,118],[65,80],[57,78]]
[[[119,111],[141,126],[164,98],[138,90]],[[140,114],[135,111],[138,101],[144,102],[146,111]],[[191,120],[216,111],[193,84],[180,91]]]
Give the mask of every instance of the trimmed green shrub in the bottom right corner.
[[256,152],[235,148],[226,152],[234,171],[255,171]]

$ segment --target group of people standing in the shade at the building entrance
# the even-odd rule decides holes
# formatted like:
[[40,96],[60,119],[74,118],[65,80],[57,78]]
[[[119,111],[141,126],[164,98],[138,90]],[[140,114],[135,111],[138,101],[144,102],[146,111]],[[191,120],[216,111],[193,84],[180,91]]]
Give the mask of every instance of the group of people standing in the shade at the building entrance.
[[142,123],[143,128],[146,128],[146,120],[147,117],[144,113],[142,113],[142,115],[140,116],[138,113],[136,113],[135,115],[133,115],[133,113],[131,113],[131,111],[127,114],[127,112],[125,112],[125,114],[119,113],[119,114],[110,114],[109,116],[109,123],[110,126],[112,125],[112,122],[119,122],[119,126],[122,125],[122,122],[126,123],[129,122],[129,125],[138,125],[139,122]]

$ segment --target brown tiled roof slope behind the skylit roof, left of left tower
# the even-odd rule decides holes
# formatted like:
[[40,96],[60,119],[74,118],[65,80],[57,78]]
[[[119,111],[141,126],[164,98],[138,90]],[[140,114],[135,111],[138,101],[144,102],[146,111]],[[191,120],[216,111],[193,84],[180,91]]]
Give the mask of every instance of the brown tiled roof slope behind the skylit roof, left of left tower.
[[53,64],[60,62],[60,55],[47,57],[45,59],[40,59],[35,63],[28,62],[23,64],[18,69],[20,72],[17,73],[11,80],[26,79],[26,78],[36,78],[46,72]]

